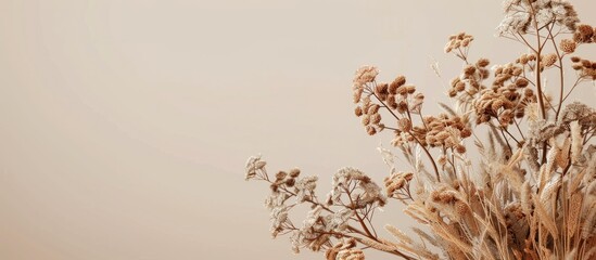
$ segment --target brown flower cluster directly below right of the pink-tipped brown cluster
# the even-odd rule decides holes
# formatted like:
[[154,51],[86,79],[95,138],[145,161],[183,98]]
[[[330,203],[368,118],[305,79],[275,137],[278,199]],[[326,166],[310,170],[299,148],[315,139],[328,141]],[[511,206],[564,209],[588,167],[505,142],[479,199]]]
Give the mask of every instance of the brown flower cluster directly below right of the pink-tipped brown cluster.
[[422,126],[416,126],[407,133],[397,132],[392,144],[402,146],[418,140],[422,146],[455,148],[461,154],[466,153],[461,140],[471,134],[472,131],[465,119],[441,114],[436,117],[426,116]]

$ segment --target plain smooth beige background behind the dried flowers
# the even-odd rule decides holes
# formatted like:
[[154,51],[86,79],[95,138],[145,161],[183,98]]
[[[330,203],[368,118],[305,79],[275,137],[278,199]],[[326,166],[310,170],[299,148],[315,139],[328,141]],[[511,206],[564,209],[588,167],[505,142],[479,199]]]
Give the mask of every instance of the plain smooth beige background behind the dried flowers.
[[[300,166],[321,193],[346,165],[381,181],[353,72],[405,74],[432,107],[444,89],[429,64],[444,81],[460,65],[449,34],[474,35],[474,58],[525,51],[494,38],[499,5],[1,0],[0,259],[321,259],[270,239],[245,159]],[[594,1],[575,5],[596,25]],[[391,209],[380,224],[411,223]]]

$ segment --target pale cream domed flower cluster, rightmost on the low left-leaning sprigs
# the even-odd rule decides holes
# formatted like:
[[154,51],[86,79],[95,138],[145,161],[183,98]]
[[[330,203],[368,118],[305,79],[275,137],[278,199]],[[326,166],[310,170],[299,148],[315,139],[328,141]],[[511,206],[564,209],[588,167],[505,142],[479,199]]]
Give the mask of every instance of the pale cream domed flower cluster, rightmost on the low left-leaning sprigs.
[[[332,190],[327,198],[328,205],[347,205],[351,209],[362,209],[367,206],[384,206],[386,197],[381,187],[364,172],[345,167],[333,174]],[[342,202],[342,195],[348,196],[348,202]]]

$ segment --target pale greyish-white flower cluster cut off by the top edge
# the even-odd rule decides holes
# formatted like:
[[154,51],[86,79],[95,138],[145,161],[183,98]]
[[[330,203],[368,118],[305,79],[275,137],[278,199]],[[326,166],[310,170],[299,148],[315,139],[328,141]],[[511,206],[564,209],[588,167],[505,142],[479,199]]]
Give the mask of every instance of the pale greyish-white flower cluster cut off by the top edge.
[[497,27],[499,36],[524,35],[533,23],[538,28],[556,23],[575,31],[575,24],[580,21],[573,5],[565,0],[508,0],[504,9],[505,18]]

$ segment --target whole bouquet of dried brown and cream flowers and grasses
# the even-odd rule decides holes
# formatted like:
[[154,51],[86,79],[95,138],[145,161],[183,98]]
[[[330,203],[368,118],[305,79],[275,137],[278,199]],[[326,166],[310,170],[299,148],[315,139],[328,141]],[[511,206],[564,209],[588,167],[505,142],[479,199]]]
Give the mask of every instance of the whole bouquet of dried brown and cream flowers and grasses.
[[[355,115],[368,134],[392,133],[409,164],[395,167],[381,148],[391,166],[382,186],[343,168],[320,197],[317,177],[269,174],[261,157],[250,158],[246,179],[270,186],[272,236],[290,234],[294,251],[329,260],[364,259],[364,249],[404,259],[596,259],[596,112],[568,101],[596,80],[596,62],[573,55],[596,42],[596,28],[580,24],[563,0],[509,0],[504,10],[498,35],[529,53],[491,69],[487,58],[468,55],[472,36],[451,36],[445,52],[465,65],[444,114],[423,115],[424,95],[403,76],[381,82],[373,66],[356,72]],[[547,72],[556,75],[553,93]],[[479,152],[478,161],[468,151]],[[394,237],[378,235],[373,216],[390,198],[421,224],[413,227],[419,239],[389,224]],[[302,204],[312,210],[296,224],[289,212]]]

